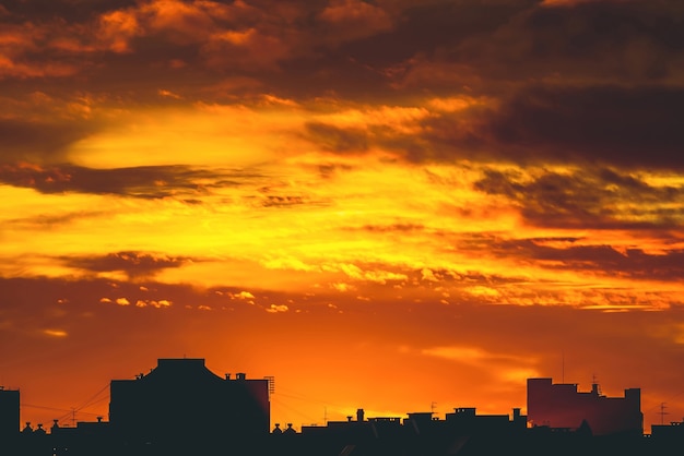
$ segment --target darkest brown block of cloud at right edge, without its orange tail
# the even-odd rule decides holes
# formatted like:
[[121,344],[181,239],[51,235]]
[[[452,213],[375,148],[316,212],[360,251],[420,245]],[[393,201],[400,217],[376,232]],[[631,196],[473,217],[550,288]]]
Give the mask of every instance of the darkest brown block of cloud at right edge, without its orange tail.
[[[545,87],[521,92],[484,122],[510,158],[683,169],[684,88]],[[519,154],[519,157],[515,155]]]

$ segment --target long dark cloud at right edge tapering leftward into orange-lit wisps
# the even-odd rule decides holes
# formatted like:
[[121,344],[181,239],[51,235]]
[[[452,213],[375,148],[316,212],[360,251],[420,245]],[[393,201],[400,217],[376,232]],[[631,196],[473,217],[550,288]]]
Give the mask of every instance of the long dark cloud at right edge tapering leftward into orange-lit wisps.
[[416,133],[311,122],[307,137],[338,154],[374,146],[411,163],[460,159],[518,165],[684,169],[684,88],[544,85],[510,97],[434,111]]

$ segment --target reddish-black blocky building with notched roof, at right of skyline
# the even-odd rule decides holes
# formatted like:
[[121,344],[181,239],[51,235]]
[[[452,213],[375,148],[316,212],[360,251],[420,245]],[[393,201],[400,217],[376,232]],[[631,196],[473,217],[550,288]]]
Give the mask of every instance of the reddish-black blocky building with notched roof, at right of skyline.
[[552,379],[528,379],[528,420],[532,425],[585,430],[593,435],[644,433],[641,391],[625,389],[624,397],[606,397],[597,383],[580,393],[577,384],[553,384]]

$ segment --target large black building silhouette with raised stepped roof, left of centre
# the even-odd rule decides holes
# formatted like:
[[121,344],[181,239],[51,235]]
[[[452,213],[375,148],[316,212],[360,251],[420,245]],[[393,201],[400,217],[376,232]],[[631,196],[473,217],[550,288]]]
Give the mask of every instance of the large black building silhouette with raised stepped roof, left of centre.
[[221,377],[204,359],[160,359],[149,374],[110,384],[111,432],[130,447],[232,444],[267,435],[269,381]]

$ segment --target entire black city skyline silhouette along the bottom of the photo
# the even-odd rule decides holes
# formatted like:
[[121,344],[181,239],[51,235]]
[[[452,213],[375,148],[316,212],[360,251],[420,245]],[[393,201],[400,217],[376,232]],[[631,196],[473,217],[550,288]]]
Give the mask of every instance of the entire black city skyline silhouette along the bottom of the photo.
[[609,397],[599,384],[590,392],[552,379],[527,380],[527,410],[483,415],[456,407],[444,418],[434,411],[368,417],[363,408],[323,427],[275,423],[270,428],[273,377],[244,372],[216,375],[204,359],[158,359],[149,373],[111,380],[108,419],[49,430],[26,422],[20,431],[20,391],[0,389],[0,449],[14,456],[231,454],[253,455],[642,455],[684,441],[684,421],[651,425],[645,434],[640,389]]

